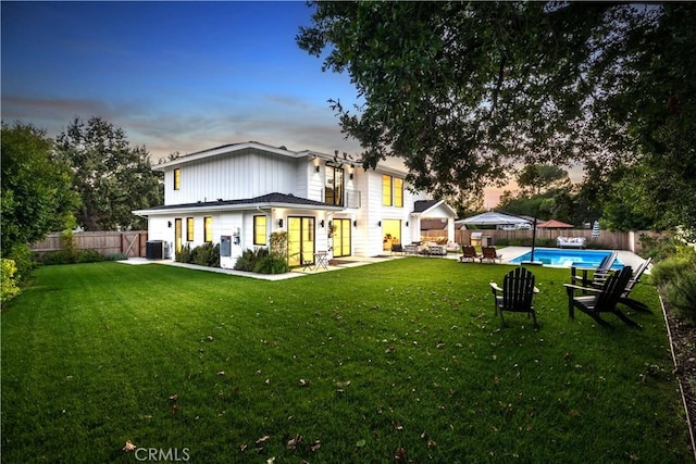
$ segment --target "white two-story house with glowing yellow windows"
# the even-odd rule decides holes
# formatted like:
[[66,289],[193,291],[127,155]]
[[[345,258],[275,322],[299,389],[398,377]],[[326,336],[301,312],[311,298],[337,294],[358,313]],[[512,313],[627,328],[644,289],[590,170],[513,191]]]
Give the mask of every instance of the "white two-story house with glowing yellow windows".
[[341,154],[291,151],[254,141],[226,145],[153,166],[164,172],[164,204],[134,214],[148,218],[148,240],[162,240],[165,258],[204,242],[221,244],[221,266],[244,250],[268,247],[286,231],[290,265],[330,258],[374,256],[395,243],[419,241],[421,218],[448,221],[443,201],[414,195],[397,160],[363,170]]

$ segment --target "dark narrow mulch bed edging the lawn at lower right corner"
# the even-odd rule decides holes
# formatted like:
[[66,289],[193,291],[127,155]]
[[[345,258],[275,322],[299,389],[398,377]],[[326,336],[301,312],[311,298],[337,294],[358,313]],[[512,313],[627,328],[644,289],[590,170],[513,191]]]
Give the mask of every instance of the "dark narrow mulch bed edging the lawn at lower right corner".
[[694,449],[694,437],[696,437],[696,325],[684,322],[667,302],[663,304],[671,335],[672,352],[676,363],[675,374],[681,383],[688,414],[692,451],[696,457]]

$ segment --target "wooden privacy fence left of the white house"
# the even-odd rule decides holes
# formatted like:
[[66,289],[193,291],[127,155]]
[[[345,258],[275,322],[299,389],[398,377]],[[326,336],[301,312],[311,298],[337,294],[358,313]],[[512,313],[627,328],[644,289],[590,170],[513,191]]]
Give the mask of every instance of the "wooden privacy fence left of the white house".
[[[115,253],[123,253],[128,258],[145,256],[147,240],[147,230],[82,231],[73,234],[73,242],[77,250],[95,250],[103,256]],[[38,253],[61,249],[60,233],[50,234],[46,237],[46,240],[32,246],[32,251]]]

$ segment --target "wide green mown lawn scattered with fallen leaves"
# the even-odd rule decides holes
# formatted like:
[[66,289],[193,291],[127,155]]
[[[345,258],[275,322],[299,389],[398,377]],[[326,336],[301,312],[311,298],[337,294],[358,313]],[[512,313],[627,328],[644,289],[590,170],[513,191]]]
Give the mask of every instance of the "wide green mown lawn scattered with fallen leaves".
[[540,328],[501,328],[510,268],[40,268],[1,315],[2,461],[691,462],[655,290],[644,330],[609,330],[569,322],[569,269],[533,268]]

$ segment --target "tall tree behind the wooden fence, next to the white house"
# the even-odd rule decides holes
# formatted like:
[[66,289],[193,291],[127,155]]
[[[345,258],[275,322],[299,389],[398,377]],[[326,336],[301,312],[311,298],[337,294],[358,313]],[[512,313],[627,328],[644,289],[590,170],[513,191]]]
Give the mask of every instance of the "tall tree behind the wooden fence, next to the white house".
[[163,202],[162,177],[144,146],[132,148],[120,127],[91,117],[75,118],[58,136],[58,152],[73,170],[82,198],[77,222],[87,230],[146,226],[130,211]]

